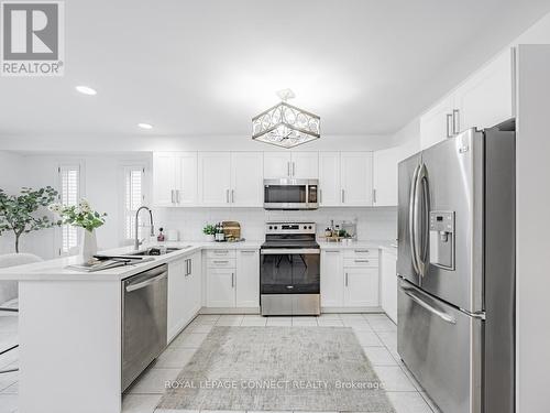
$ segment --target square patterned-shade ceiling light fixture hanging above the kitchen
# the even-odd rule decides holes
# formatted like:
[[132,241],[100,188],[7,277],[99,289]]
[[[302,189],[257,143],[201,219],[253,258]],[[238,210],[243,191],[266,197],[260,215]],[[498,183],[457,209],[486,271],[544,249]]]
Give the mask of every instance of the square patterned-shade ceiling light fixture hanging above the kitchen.
[[252,118],[252,139],[282,148],[294,148],[321,137],[321,118],[286,101],[293,90],[277,91],[280,104]]

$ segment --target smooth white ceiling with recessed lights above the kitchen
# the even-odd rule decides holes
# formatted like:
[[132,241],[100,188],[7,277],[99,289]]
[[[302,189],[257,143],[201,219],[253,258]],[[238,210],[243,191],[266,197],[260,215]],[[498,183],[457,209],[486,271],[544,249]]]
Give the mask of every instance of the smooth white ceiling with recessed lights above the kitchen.
[[0,78],[0,137],[249,135],[286,87],[326,134],[391,133],[548,11],[548,0],[70,0],[65,76]]

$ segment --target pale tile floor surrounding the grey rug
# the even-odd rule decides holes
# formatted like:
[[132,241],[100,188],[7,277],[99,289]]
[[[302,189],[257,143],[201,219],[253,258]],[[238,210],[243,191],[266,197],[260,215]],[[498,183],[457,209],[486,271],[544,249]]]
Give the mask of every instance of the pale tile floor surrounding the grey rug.
[[[397,355],[397,328],[385,314],[323,314],[320,317],[199,315],[128,390],[123,396],[123,412],[154,413],[164,391],[165,380],[176,378],[215,325],[352,327],[366,357],[384,382],[387,395],[397,413],[439,413],[400,361]],[[0,324],[0,338],[1,334]],[[0,356],[0,369],[6,366],[16,366],[16,351],[3,358]],[[0,374],[0,413],[16,412],[16,393],[18,373]],[[170,412],[182,413],[182,411]],[[156,410],[156,413],[168,413],[168,411]],[[208,413],[208,411],[201,413]]]

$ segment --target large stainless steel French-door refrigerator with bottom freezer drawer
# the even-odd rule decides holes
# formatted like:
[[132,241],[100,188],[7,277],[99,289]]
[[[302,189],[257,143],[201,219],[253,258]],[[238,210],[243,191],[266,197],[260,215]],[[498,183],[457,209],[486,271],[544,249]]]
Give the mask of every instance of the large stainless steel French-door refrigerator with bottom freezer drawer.
[[398,354],[444,413],[515,410],[515,122],[399,163]]

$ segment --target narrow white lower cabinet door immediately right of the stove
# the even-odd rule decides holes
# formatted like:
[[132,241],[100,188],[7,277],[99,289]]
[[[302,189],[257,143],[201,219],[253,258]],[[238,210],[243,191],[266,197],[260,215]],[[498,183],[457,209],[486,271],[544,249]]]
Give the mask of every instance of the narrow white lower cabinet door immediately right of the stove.
[[321,307],[343,307],[343,259],[340,250],[321,252]]

